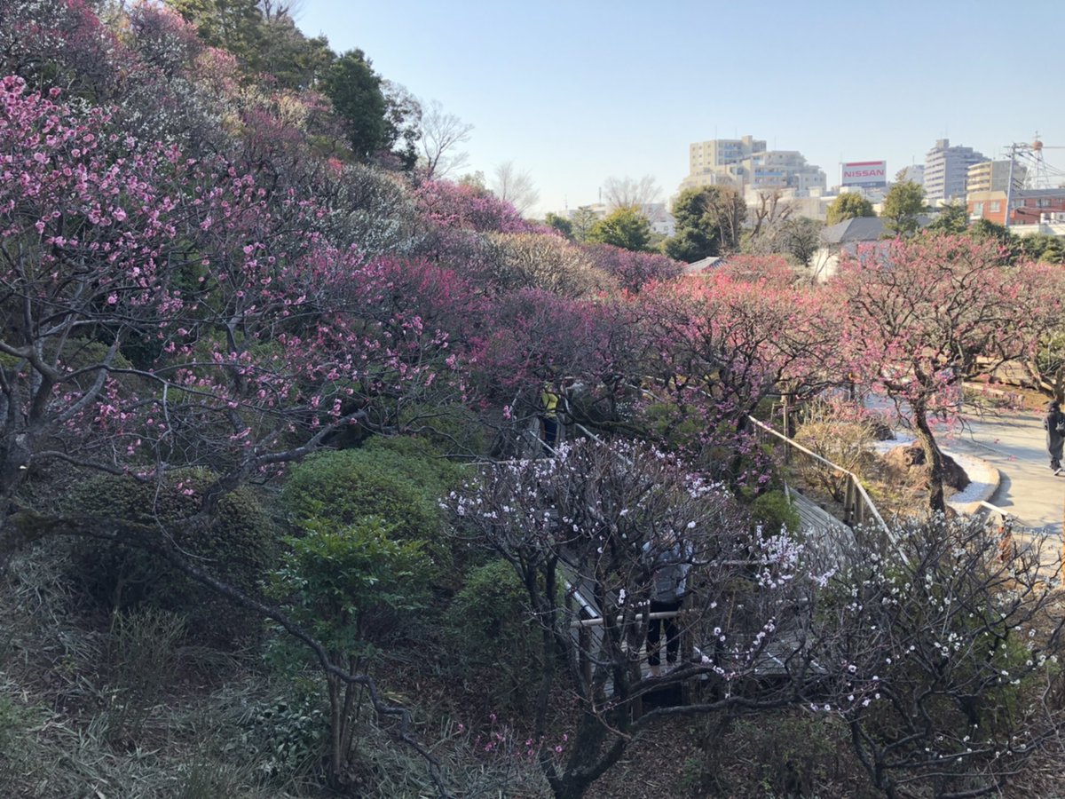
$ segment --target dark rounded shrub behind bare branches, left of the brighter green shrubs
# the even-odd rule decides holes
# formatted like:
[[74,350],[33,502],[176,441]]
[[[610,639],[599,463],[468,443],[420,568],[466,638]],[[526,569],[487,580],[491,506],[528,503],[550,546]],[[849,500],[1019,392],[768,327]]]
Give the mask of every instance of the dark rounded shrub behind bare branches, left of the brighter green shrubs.
[[[171,472],[166,483],[133,477],[94,477],[75,488],[66,510],[79,517],[120,519],[169,536],[201,570],[256,594],[277,553],[277,534],[251,489],[225,495],[207,525],[191,525],[201,491],[214,475],[208,470]],[[185,576],[158,555],[135,547],[79,541],[72,569],[89,594],[109,607],[158,607],[184,616],[194,633],[216,642],[256,635],[258,618],[216,591]]]

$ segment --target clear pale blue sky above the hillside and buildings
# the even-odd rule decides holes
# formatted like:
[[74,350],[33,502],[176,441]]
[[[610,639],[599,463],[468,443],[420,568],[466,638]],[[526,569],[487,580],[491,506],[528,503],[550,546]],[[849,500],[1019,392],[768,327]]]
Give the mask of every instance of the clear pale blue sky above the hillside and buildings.
[[1036,132],[1065,173],[1061,0],[298,0],[296,22],[472,125],[462,172],[512,162],[540,214],[608,178],[666,200],[690,143],[744,134],[830,186],[840,162],[890,176],[938,138],[1003,158]]

